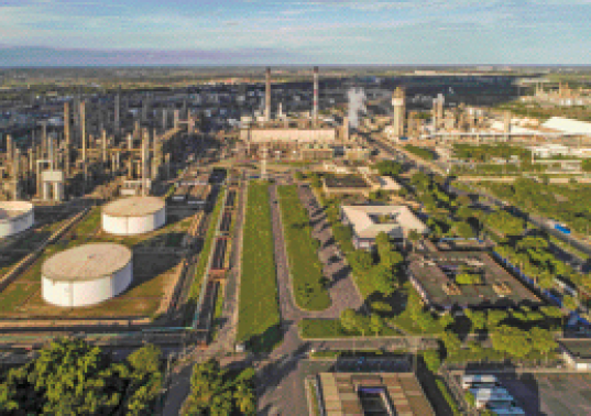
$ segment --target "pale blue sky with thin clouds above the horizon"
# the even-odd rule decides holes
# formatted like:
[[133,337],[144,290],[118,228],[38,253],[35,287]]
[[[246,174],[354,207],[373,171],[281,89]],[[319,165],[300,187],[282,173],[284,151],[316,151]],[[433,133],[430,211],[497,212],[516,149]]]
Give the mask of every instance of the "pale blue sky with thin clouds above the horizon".
[[591,0],[0,0],[0,66],[591,64]]

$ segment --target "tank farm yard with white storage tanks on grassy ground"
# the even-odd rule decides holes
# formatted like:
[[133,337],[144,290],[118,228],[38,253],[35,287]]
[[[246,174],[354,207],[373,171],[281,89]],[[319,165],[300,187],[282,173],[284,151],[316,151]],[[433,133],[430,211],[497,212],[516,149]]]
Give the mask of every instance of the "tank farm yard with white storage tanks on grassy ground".
[[[223,302],[238,205],[239,182],[231,177],[227,185],[225,176],[225,171],[189,166],[163,197],[121,197],[94,206],[31,205],[12,214],[7,205],[4,217],[25,218],[34,209],[34,223],[1,240],[2,331],[173,328],[206,344],[216,304]],[[187,183],[186,199],[174,201]],[[219,215],[211,218],[217,201]],[[210,250],[201,252],[210,228]],[[200,256],[207,259],[203,282],[196,267]],[[199,300],[190,305],[196,284]]]

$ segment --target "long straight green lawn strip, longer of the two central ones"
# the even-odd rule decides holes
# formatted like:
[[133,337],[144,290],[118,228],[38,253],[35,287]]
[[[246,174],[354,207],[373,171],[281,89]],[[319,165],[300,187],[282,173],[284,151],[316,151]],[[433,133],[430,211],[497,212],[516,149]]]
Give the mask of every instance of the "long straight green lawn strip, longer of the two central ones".
[[277,298],[269,183],[251,182],[242,241],[237,336],[239,342],[247,342],[249,350],[271,351],[281,341]]

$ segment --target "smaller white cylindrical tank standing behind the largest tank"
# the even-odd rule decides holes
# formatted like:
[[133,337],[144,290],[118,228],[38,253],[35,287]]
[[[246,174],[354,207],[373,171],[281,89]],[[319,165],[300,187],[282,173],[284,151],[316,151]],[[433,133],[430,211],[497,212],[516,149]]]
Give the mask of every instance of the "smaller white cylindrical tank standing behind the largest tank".
[[102,208],[102,229],[111,234],[133,236],[166,223],[166,204],[157,197],[130,197]]

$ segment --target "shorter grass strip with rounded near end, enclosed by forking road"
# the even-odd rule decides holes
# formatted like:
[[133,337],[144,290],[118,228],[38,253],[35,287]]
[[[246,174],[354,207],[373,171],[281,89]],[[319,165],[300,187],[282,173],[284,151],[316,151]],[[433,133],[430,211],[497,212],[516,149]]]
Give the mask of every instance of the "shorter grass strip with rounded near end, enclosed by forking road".
[[280,186],[278,195],[295,300],[303,309],[324,310],[331,302],[322,283],[319,242],[311,237],[308,211],[299,200],[296,185]]

